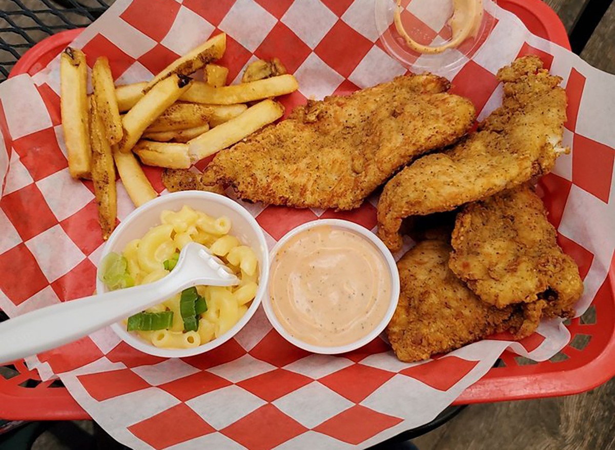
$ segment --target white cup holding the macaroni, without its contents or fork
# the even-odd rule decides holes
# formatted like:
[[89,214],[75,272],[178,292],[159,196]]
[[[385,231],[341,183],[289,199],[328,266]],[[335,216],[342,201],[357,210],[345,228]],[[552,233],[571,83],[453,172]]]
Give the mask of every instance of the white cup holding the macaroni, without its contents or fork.
[[[242,244],[252,247],[256,253],[256,257],[258,258],[259,286],[258,291],[256,291],[256,297],[252,301],[252,305],[231,330],[224,333],[220,338],[213,339],[213,341],[207,344],[199,345],[199,347],[194,347],[192,349],[162,349],[153,344],[148,344],[143,341],[143,339],[139,338],[137,334],[126,331],[126,327],[122,322],[111,325],[113,331],[115,331],[122,341],[137,350],[141,350],[141,352],[159,357],[183,358],[199,355],[200,353],[215,349],[218,345],[224,344],[224,342],[231,339],[246,323],[248,323],[248,320],[250,320],[256,312],[256,309],[258,309],[261,299],[266,292],[266,281],[269,278],[269,251],[261,227],[252,215],[250,215],[244,207],[239,205],[239,203],[223,195],[213,194],[212,192],[175,192],[173,194],[162,195],[157,199],[145,203],[145,205],[142,205],[130,213],[130,215],[119,224],[113,234],[111,234],[111,237],[109,237],[101,258],[105,258],[105,255],[111,251],[122,253],[127,243],[133,239],[142,238],[151,227],[161,223],[160,213],[162,211],[179,211],[184,205],[188,205],[210,216],[227,216],[231,219],[232,228],[229,234],[237,237]],[[96,290],[99,293],[108,291],[105,283],[101,282],[98,277],[96,280]]]

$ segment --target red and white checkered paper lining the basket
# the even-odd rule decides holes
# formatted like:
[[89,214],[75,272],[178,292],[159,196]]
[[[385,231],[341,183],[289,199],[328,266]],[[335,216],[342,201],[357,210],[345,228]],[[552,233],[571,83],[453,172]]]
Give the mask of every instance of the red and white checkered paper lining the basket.
[[[229,80],[255,58],[279,57],[295,74],[299,91],[282,98],[288,113],[306,98],[343,95],[407,73],[378,41],[373,2],[118,0],[73,45],[84,49],[90,66],[99,55],[109,57],[117,82],[136,82],[224,31],[229,39],[221,64]],[[442,26],[429,14],[433,0],[404,4],[408,24],[431,39],[443,32],[432,29]],[[496,10],[495,22],[481,49],[460,54],[464,65],[443,75],[454,93],[474,101],[481,119],[501,100],[496,72],[515,57],[538,54],[563,77],[565,144],[573,152],[539,186],[560,245],[581,267],[580,315],[613,265],[615,77],[531,35],[504,10]],[[58,58],[0,84],[0,307],[10,316],[94,288],[103,241],[92,184],[68,175],[58,93]],[[160,171],[146,168],[146,174],[164,194]],[[123,219],[133,205],[121,184],[118,189]],[[346,213],[245,207],[271,245],[318,218],[374,229],[375,205],[369,199]],[[433,419],[506,348],[546,360],[568,339],[561,320],[552,320],[521,343],[499,336],[405,364],[381,339],[346,355],[304,352],[272,330],[260,309],[235,339],[198,357],[151,357],[106,328],[29,363],[43,377],[59,376],[93,419],[131,448],[343,449],[365,448]]]

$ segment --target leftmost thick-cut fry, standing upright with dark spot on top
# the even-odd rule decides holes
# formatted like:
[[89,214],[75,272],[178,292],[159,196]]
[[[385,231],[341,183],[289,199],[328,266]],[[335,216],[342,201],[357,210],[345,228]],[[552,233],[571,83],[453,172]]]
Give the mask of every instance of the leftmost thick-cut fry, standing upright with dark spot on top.
[[66,47],[60,57],[60,111],[73,178],[90,178],[92,148],[88,136],[87,65],[81,50]]

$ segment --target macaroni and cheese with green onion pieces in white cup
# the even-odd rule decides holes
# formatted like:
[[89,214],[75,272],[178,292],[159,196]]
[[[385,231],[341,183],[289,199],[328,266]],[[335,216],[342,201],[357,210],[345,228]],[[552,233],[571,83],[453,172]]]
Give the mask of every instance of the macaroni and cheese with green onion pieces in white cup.
[[[113,267],[104,272],[103,280],[111,288],[108,280],[114,278],[122,280],[116,288],[160,280],[173,270],[179,252],[189,242],[208,247],[240,282],[236,286],[196,286],[196,290],[185,290],[132,316],[127,322],[128,330],[156,347],[175,349],[207,344],[230,330],[247,312],[258,290],[256,254],[229,235],[230,231],[228,217],[212,218],[184,206],[180,211],[162,211],[159,226],[129,242],[122,257],[116,255],[121,259],[119,264],[114,261]],[[110,270],[122,273],[109,274]]]

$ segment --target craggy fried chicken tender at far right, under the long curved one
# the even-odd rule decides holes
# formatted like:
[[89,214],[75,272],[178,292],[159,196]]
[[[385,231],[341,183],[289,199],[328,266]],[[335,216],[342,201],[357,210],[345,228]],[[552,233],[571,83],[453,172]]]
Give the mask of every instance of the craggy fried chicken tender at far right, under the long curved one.
[[488,304],[531,304],[528,319],[573,317],[583,282],[556,239],[541,199],[523,184],[464,207],[448,264]]

